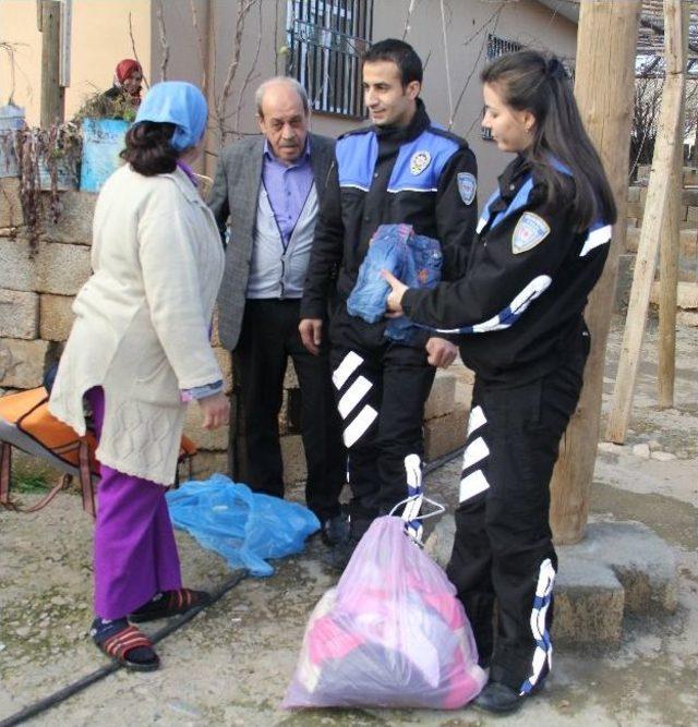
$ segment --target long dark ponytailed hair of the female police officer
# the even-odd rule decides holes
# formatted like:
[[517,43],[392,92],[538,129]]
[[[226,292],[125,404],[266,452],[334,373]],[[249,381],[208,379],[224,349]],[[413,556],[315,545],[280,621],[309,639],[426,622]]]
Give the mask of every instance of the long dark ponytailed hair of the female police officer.
[[606,225],[615,222],[611,185],[559,60],[534,50],[520,50],[493,60],[480,78],[495,86],[507,106],[535,117],[533,144],[526,157],[547,186],[547,206],[555,205],[565,187],[564,173],[553,166],[553,157],[567,167],[575,180],[571,205],[577,230],[585,230],[598,217]]

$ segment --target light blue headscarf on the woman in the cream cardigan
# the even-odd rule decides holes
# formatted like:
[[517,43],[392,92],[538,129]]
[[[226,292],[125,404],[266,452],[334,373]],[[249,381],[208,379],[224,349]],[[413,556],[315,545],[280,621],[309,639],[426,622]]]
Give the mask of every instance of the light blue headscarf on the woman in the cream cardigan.
[[177,129],[170,144],[178,150],[196,146],[206,131],[208,107],[204,95],[191,83],[156,83],[139,107],[135,122],[173,123]]

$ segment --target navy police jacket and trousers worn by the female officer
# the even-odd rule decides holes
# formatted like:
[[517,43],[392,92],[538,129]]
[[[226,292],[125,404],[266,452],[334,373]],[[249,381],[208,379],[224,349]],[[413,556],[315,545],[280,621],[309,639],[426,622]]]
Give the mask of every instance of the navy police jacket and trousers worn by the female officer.
[[611,239],[603,220],[575,231],[574,180],[556,166],[563,191],[549,209],[543,182],[513,161],[479,220],[466,276],[402,298],[416,323],[462,336],[476,372],[448,575],[481,662],[521,694],[550,668],[549,485],[589,353],[583,310]]

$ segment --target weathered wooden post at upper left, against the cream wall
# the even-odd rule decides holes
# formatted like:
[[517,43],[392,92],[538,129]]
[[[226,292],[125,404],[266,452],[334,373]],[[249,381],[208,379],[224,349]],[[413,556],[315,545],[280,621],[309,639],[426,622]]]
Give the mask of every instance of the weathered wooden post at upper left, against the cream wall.
[[41,0],[41,126],[63,121],[64,92],[60,85],[61,3]]

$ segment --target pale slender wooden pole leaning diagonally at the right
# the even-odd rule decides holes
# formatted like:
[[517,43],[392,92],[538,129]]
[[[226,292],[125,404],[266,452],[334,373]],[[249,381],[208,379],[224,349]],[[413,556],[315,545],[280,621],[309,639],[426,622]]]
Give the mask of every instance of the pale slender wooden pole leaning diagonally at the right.
[[679,120],[685,85],[684,70],[686,68],[684,36],[688,29],[684,26],[683,17],[681,0],[664,0],[666,76],[662,90],[662,108],[633,275],[633,288],[630,289],[628,313],[623,332],[623,343],[621,344],[621,358],[606,427],[606,438],[617,444],[625,441],[630,421],[633,393],[640,363],[650,292],[657,268],[659,241],[663,232],[662,226],[667,219],[671,186],[669,182],[675,167],[676,145],[679,144],[679,136],[682,137],[681,146],[683,146]]

